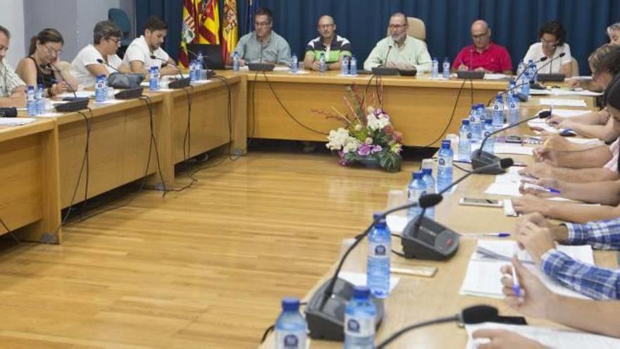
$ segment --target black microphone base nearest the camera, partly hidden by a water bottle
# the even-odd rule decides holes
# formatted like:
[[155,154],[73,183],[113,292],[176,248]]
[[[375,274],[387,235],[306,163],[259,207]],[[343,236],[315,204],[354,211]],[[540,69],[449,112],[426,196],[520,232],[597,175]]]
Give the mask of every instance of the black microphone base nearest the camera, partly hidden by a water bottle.
[[[323,304],[325,288],[328,288],[331,278],[319,287],[306,305],[306,322],[310,331],[310,338],[327,341],[345,341],[345,308],[353,298],[353,287],[349,281],[338,278],[330,299]],[[383,321],[383,300],[371,295],[371,300],[377,308],[375,326],[379,327]]]

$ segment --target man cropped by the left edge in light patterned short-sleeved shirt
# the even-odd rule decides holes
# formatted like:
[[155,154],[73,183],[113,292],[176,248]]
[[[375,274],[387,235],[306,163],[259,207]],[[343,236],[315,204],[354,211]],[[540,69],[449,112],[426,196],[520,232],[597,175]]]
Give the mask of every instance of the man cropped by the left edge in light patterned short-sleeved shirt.
[[23,108],[26,106],[26,85],[5,59],[10,41],[11,32],[0,25],[0,107]]

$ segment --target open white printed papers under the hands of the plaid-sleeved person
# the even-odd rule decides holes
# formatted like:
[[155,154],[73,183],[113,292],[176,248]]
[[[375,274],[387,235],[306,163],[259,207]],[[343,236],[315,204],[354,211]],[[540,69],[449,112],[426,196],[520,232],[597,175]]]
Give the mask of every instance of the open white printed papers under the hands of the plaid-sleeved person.
[[[594,264],[594,255],[590,245],[558,245],[557,250],[581,262]],[[510,259],[512,259],[515,253],[519,260],[523,262],[523,265],[538,276],[540,281],[552,292],[574,298],[588,299],[585,295],[566,288],[544,274],[540,267],[533,264],[531,256],[527,252],[521,251],[516,242],[512,240],[478,240],[476,252],[473,252],[469,259],[460,294],[504,298],[500,269],[504,265],[509,264]]]

